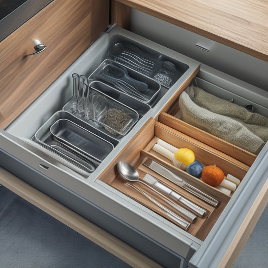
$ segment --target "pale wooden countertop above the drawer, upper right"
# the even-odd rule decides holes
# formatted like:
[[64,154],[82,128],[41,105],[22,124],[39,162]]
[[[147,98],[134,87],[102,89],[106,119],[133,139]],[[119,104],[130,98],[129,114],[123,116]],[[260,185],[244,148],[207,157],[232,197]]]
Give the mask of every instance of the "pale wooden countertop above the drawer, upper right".
[[115,2],[268,61],[268,6],[265,0]]

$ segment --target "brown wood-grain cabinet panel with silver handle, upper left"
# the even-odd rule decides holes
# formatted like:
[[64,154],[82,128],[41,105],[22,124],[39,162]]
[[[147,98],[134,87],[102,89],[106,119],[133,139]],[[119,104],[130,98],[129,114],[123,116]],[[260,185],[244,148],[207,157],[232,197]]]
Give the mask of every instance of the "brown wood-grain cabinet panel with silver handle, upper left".
[[[100,16],[102,14],[102,16]],[[54,0],[0,43],[0,128],[6,127],[109,24],[109,0]],[[37,54],[38,39],[47,47]]]

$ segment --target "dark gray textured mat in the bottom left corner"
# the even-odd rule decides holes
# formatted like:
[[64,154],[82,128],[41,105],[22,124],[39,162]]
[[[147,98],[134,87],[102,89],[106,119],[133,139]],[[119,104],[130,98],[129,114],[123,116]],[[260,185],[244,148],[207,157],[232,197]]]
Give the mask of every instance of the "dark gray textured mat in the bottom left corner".
[[1,186],[0,267],[130,266]]

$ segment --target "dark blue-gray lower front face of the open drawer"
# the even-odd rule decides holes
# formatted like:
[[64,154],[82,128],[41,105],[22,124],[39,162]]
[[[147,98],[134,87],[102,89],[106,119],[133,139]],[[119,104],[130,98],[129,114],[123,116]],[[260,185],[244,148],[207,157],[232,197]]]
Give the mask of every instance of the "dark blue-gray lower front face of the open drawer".
[[1,166],[69,209],[112,233],[164,267],[179,267],[183,258],[92,202],[51,180],[0,149]]

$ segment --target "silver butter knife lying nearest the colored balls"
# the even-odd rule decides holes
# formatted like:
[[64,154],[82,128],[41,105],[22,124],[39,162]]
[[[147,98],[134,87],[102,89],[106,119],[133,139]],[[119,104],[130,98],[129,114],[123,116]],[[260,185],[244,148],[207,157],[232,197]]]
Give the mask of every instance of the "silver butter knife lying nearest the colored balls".
[[149,167],[151,170],[155,171],[159,175],[166,178],[168,181],[176,184],[177,186],[181,187],[188,193],[198,197],[202,201],[206,202],[207,204],[217,208],[220,204],[220,201],[216,200],[215,198],[207,195],[206,193],[202,192],[201,190],[195,188],[194,186],[188,184],[182,178],[175,175],[173,172],[171,172],[169,169],[165,168],[161,164],[156,163],[155,161],[151,159],[147,159],[144,163],[145,166]]

